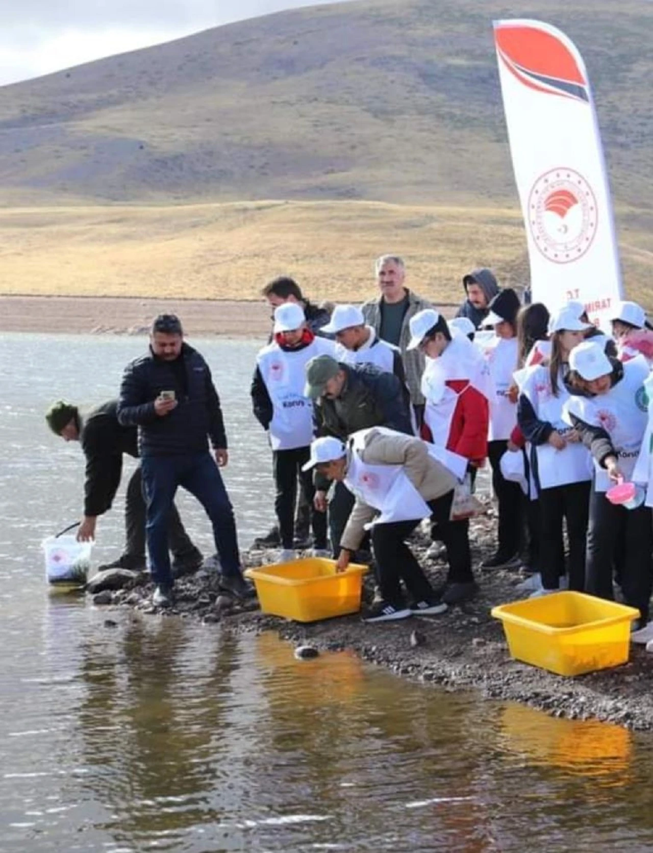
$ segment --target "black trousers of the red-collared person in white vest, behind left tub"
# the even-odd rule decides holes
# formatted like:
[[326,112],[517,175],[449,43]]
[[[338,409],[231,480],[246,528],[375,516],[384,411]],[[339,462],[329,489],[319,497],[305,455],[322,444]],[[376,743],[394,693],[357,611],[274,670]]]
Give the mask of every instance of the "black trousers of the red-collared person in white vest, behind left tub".
[[298,481],[305,502],[309,505],[310,524],[313,529],[315,548],[327,548],[327,514],[318,513],[313,506],[315,485],[313,472],[302,471],[309,461],[310,448],[298,447],[294,450],[274,450],[272,454],[274,468],[274,510],[279,519],[281,548],[292,548],[295,538],[295,504],[297,502]]

